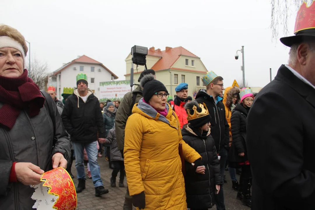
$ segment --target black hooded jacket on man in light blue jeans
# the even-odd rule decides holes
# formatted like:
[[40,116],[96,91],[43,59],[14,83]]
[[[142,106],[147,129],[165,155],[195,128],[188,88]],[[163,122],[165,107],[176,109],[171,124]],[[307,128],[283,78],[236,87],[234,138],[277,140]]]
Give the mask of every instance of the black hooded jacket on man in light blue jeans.
[[90,143],[99,138],[106,138],[105,126],[100,102],[91,90],[84,103],[77,89],[68,97],[61,114],[62,122],[73,142]]

